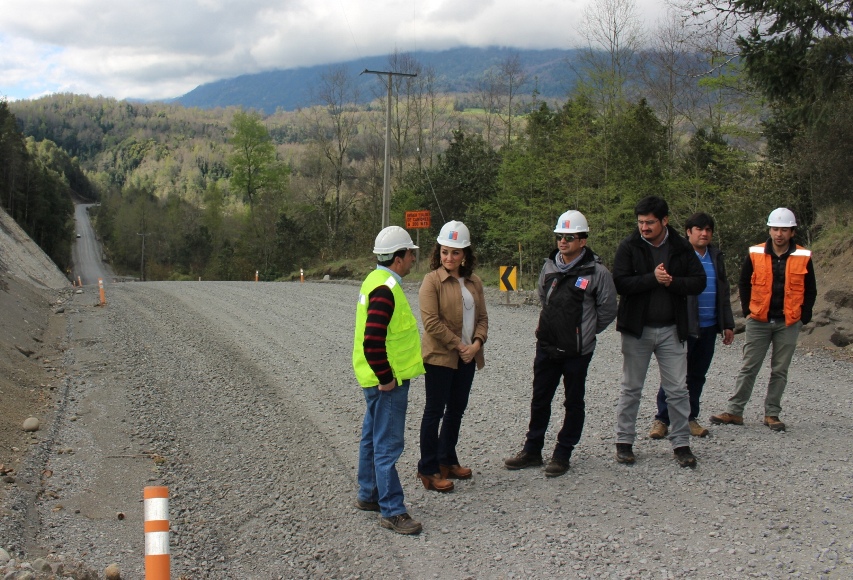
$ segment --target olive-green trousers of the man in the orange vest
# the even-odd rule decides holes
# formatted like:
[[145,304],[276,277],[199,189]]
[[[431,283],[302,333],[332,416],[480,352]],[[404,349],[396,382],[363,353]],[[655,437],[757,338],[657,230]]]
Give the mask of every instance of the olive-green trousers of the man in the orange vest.
[[785,321],[758,322],[746,319],[746,341],[743,345],[743,366],[735,383],[735,394],[729,399],[729,413],[743,416],[743,409],[752,396],[755,378],[767,349],[773,345],[770,355],[770,381],[764,398],[764,414],[778,417],[782,412],[782,395],[788,384],[788,367],[797,350],[797,337],[803,327],[801,321],[785,326]]

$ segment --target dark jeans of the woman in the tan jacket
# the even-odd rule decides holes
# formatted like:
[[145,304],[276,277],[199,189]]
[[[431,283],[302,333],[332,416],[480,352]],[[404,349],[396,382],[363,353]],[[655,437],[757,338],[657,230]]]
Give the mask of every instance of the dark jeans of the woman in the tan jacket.
[[[439,465],[458,465],[456,443],[462,427],[462,415],[468,407],[468,395],[474,382],[477,363],[459,361],[459,368],[424,363],[426,404],[421,419],[420,473],[438,473]],[[441,430],[439,431],[439,424]]]

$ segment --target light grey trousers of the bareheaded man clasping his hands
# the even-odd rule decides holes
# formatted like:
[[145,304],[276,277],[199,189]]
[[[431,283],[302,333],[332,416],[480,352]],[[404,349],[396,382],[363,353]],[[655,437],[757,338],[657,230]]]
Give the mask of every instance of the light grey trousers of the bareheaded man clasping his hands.
[[675,325],[645,326],[640,338],[622,333],[622,384],[616,406],[616,443],[633,444],[637,437],[637,412],[652,354],[658,361],[660,386],[666,393],[672,418],[670,444],[673,449],[690,445],[687,344],[678,340]]

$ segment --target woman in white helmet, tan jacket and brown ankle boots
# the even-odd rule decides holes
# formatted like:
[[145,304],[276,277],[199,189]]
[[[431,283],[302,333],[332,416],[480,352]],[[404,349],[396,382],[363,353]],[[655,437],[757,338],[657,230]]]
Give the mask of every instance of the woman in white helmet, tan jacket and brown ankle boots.
[[456,443],[475,369],[484,365],[489,315],[477,259],[462,222],[441,228],[418,299],[424,335],[426,405],[421,419],[418,477],[426,489],[450,491],[450,479],[468,479],[471,469],[456,456]]

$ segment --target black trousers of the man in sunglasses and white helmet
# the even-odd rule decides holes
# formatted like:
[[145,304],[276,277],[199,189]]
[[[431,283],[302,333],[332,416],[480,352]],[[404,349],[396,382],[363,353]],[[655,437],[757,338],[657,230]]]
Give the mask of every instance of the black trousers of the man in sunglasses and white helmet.
[[578,357],[548,358],[539,345],[536,345],[536,358],[533,360],[533,399],[530,401],[530,426],[524,450],[528,453],[541,453],[545,446],[545,432],[551,420],[551,402],[563,378],[566,391],[566,416],[563,427],[557,434],[557,446],[554,458],[568,460],[578,444],[586,419],[586,372],[592,360],[592,353]]

